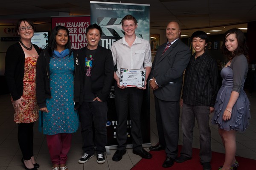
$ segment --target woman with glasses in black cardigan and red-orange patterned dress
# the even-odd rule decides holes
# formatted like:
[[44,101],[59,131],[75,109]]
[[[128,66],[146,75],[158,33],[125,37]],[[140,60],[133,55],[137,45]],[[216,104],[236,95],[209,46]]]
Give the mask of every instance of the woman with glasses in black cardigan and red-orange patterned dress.
[[18,142],[26,170],[37,170],[33,154],[33,125],[38,119],[38,105],[35,92],[35,67],[40,53],[37,45],[31,43],[34,24],[21,19],[16,23],[20,41],[6,51],[5,77],[15,109],[14,121],[18,124]]

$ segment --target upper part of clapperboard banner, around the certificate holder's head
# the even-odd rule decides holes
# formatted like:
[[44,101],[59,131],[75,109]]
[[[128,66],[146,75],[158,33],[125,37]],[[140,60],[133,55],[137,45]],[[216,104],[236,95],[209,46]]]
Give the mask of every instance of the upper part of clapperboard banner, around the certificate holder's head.
[[124,36],[121,20],[128,14],[137,19],[137,36],[149,41],[149,5],[90,1],[90,11],[91,23],[102,28],[102,47],[110,49],[113,42]]

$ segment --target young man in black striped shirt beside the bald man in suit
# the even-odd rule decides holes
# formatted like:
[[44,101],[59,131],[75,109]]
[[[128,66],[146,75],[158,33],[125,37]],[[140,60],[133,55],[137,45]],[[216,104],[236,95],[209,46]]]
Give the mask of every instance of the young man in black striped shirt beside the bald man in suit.
[[193,128],[195,119],[200,133],[200,160],[204,170],[211,170],[211,130],[209,114],[214,111],[218,91],[217,63],[205,48],[208,35],[204,31],[196,31],[191,36],[195,53],[191,56],[186,68],[183,94],[180,99],[182,107],[181,124],[183,130],[183,147],[177,163],[192,157]]

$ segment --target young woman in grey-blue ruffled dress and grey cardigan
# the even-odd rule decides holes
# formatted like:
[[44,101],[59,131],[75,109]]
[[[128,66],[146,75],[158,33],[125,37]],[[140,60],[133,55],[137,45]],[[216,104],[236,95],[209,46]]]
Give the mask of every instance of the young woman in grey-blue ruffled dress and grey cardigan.
[[236,131],[245,131],[249,125],[250,102],[244,92],[248,72],[248,48],[244,33],[237,28],[224,34],[223,52],[229,59],[221,70],[222,85],[218,91],[212,123],[219,126],[225,147],[225,161],[219,170],[236,170]]

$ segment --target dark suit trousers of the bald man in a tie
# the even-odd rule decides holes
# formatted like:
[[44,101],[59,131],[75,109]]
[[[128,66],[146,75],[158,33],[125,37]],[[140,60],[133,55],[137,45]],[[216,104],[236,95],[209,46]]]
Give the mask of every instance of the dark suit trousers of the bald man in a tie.
[[156,121],[159,142],[166,146],[166,156],[175,159],[178,153],[180,105],[178,101],[164,101],[156,96]]

